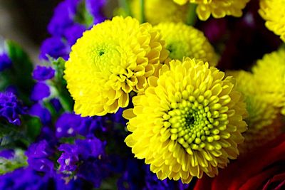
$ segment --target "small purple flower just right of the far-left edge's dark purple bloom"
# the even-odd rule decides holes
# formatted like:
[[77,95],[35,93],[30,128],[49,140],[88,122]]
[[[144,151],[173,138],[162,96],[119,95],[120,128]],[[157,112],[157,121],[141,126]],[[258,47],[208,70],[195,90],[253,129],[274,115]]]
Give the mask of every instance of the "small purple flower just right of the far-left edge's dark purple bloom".
[[28,113],[30,115],[39,117],[43,125],[48,125],[51,123],[51,112],[49,112],[48,109],[42,107],[40,103],[33,105]]

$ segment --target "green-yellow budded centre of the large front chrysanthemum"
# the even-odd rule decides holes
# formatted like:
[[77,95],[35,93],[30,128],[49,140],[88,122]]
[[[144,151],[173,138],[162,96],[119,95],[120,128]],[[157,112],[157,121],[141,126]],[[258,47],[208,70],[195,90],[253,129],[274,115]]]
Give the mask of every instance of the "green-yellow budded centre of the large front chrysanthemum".
[[172,102],[172,109],[163,116],[165,127],[170,128],[170,139],[180,143],[190,154],[193,149],[209,146],[207,142],[219,140],[220,130],[226,129],[227,115],[218,112],[221,106],[208,103],[202,96],[197,99],[190,96],[188,100]]

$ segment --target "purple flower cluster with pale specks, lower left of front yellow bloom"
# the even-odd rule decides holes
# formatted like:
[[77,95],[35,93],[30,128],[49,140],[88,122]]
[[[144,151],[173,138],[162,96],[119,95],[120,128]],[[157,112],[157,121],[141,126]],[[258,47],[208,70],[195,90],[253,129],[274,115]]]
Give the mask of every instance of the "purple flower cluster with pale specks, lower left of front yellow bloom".
[[105,143],[96,137],[77,139],[74,144],[61,144],[58,159],[63,174],[73,174],[99,187],[104,176]]

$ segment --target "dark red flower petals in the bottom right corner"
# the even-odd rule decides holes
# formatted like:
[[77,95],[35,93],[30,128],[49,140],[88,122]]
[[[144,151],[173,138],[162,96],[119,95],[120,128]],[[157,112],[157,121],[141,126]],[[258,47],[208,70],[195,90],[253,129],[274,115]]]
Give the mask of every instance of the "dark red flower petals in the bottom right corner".
[[285,189],[285,134],[237,159],[217,177],[204,176],[194,190]]

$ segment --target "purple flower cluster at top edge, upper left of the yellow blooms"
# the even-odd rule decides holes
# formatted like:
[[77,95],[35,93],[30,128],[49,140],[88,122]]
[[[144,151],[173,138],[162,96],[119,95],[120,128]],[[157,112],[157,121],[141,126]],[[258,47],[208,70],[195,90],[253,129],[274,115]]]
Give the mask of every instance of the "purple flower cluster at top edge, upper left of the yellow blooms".
[[[48,60],[48,55],[67,60],[71,46],[82,36],[83,31],[105,20],[105,3],[105,0],[65,0],[58,4],[48,24],[51,37],[43,41],[40,58]],[[85,18],[86,15],[89,17]]]

